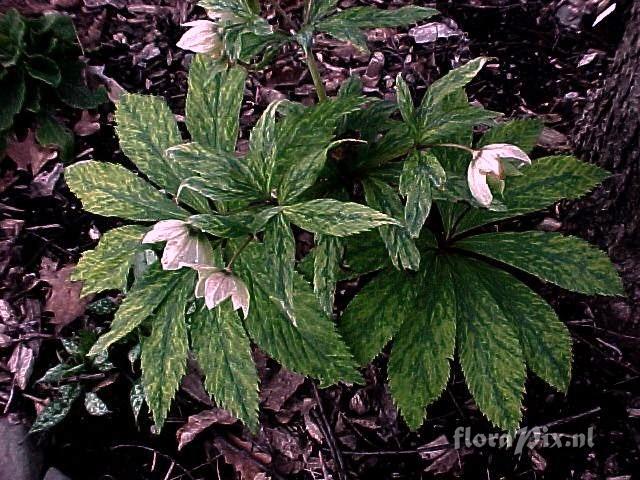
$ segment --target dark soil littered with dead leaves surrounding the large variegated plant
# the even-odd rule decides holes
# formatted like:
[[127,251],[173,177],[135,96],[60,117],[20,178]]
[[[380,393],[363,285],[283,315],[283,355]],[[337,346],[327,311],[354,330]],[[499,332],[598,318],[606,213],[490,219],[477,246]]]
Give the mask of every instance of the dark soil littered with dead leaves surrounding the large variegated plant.
[[[203,16],[194,3],[0,0],[0,10],[14,4],[31,13],[50,8],[67,12],[75,20],[90,65],[104,66],[104,74],[128,91],[165,97],[173,111],[182,114],[190,55],[175,43],[183,31],[181,23]],[[271,3],[261,3],[277,21]],[[281,2],[287,11],[300,3]],[[399,6],[424,2],[342,2],[356,3]],[[618,2],[617,10],[592,28],[597,3],[437,2],[443,21],[453,28],[457,25],[459,36],[417,45],[406,31],[377,30],[370,34],[373,56],[330,39],[320,41],[317,49],[330,94],[349,74],[360,73],[367,76],[371,94],[390,96],[392,79],[403,71],[421,95],[452,66],[478,55],[495,57],[494,66],[471,86],[473,99],[507,116],[542,118],[548,130],[537,153],[565,152],[587,92],[607,75],[629,2]],[[589,53],[596,53],[595,59],[578,67]],[[301,52],[288,49],[275,66],[251,76],[242,115],[243,138],[246,127],[271,100],[287,95],[314,101],[302,58]],[[381,58],[384,64],[376,63]],[[126,164],[114,135],[112,106],[97,113],[100,128],[78,137],[78,159]],[[73,127],[80,114],[61,112],[61,117]],[[55,188],[41,196],[31,175],[16,171],[8,159],[2,167],[0,327],[4,328],[0,333],[21,339],[37,354],[37,361],[22,392],[7,363],[16,342],[0,346],[0,400],[13,419],[32,419],[35,408],[51,396],[33,383],[57,363],[61,346],[56,337],[105,327],[109,319],[87,312],[57,331],[51,315],[44,312],[51,287],[38,279],[42,259],[52,259],[60,267],[74,263],[80,252],[95,245],[95,233],[111,228],[113,222],[83,213],[63,180],[54,179]],[[54,165],[48,165],[45,172],[53,169]],[[522,455],[489,447],[444,449],[440,456],[434,455],[430,452],[432,442],[442,435],[452,442],[458,426],[469,426],[474,434],[491,431],[471,401],[461,372],[455,372],[445,395],[429,409],[430,418],[422,429],[411,433],[385,390],[384,355],[366,369],[366,386],[341,385],[316,396],[311,382],[300,384],[297,376],[256,352],[262,395],[269,405],[261,412],[260,435],[251,437],[237,426],[215,426],[178,452],[177,429],[189,415],[211,408],[197,372],[183,385],[162,434],[154,435],[144,413],[139,425],[134,422],[128,394],[135,375],[122,347],[112,356],[120,373],[100,390],[112,413],[92,417],[75,408],[60,426],[41,438],[46,463],[72,479],[226,479],[237,474],[247,479],[262,471],[266,476],[255,478],[415,479],[438,472],[445,478],[632,478],[640,470],[640,244],[630,237],[624,222],[613,222],[609,215],[608,208],[620,202],[616,185],[625,175],[624,171],[613,173],[588,198],[561,202],[525,220],[534,227],[579,235],[607,249],[624,280],[627,297],[614,299],[588,298],[537,285],[573,334],[574,378],[564,396],[532,377],[523,424],[548,426],[550,431],[568,435],[593,427],[593,447],[533,448]],[[640,179],[632,181],[640,188]],[[98,380],[88,385],[95,387]],[[267,397],[279,401],[267,401]]]

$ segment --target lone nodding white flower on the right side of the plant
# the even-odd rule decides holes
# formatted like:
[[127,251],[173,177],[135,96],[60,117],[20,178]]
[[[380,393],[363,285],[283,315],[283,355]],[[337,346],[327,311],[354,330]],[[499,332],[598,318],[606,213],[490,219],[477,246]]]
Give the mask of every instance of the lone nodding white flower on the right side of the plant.
[[517,160],[516,167],[530,165],[531,159],[520,148],[507,143],[494,143],[476,150],[467,170],[467,181],[473,198],[480,205],[488,207],[493,201],[493,194],[487,183],[487,175],[504,179],[505,172],[502,159]]

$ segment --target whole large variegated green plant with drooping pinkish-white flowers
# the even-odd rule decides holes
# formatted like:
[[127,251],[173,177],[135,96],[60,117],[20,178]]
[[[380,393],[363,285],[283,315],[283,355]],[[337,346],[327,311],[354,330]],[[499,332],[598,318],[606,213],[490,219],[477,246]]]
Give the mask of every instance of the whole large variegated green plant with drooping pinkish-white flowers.
[[[469,104],[464,88],[486,58],[433,83],[418,107],[401,76],[397,103],[364,97],[357,78],[326,98],[314,32],[364,46],[362,29],[434,14],[418,7],[335,13],[336,4],[307,2],[299,30],[286,36],[260,18],[257,2],[203,2],[216,21],[191,24],[195,31],[181,40],[202,52],[189,72],[191,141],[163,100],[124,95],[120,144],[145,178],[96,161],[67,168],[85,209],[135,222],[107,232],[78,264],[74,278],[84,293],[126,292],[89,355],[137,332],[144,395],[161,427],[191,349],[207,391],[255,430],[250,342],[329,385],[361,381],[357,365],[393,341],[391,392],[417,428],[457,350],[480,409],[513,429],[526,366],[566,390],[571,341],[512,272],[587,294],[620,294],[621,285],[607,257],[586,242],[506,232],[500,222],[583,195],[607,172],[569,156],[531,161],[539,122],[497,122],[498,113]],[[239,154],[246,62],[282,35],[304,39],[320,102],[272,103]],[[250,55],[247,45],[255,47]],[[478,126],[486,133],[474,142]],[[300,261],[292,226],[315,235]],[[136,256],[160,253],[161,242],[161,259],[132,282]],[[337,282],[365,274],[373,279],[336,329]]]

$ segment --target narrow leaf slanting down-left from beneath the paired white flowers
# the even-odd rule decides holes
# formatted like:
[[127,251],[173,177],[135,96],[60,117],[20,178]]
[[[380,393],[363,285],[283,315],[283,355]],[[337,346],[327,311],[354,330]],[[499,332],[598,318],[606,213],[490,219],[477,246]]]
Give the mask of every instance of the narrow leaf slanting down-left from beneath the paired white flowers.
[[[109,332],[101,336],[91,347],[90,356],[104,352],[109,346],[137,328],[165,302],[181,285],[193,287],[193,272],[188,269],[176,271],[161,270],[159,264],[149,267],[144,276],[134,284],[113,318]],[[183,299],[184,304],[184,299]]]

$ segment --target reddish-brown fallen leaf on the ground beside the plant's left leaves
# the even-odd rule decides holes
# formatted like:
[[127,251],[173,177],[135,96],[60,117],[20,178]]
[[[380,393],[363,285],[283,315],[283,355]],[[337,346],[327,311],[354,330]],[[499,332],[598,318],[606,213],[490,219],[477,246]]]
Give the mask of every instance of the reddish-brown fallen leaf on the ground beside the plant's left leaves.
[[51,292],[44,309],[54,314],[51,322],[60,332],[66,325],[84,313],[92,296],[81,297],[82,282],[72,282],[69,277],[75,265],[66,265],[57,270],[57,263],[50,258],[43,258],[40,266],[40,278],[51,285]]

